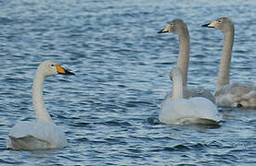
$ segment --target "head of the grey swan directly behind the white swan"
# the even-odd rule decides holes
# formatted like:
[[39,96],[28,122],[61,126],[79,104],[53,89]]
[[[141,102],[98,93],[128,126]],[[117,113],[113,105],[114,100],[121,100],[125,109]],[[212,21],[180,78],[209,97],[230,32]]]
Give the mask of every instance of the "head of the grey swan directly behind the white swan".
[[165,26],[164,29],[160,30],[158,33],[174,33],[178,34],[179,30],[186,29],[186,24],[182,19],[174,19]]

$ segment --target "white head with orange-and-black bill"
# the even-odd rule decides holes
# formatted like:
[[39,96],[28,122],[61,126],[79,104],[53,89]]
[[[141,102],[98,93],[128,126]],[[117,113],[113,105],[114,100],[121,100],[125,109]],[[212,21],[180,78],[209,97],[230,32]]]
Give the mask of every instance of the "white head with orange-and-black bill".
[[41,63],[37,71],[40,72],[45,77],[55,76],[55,75],[74,75],[74,73],[66,70],[60,65],[56,64],[51,60],[44,61]]

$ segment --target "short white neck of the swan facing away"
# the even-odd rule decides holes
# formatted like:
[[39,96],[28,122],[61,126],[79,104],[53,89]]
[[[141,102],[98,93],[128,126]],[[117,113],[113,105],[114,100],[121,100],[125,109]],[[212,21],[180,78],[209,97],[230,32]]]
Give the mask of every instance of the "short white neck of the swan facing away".
[[182,99],[183,98],[183,81],[182,76],[173,77],[173,94],[172,99]]

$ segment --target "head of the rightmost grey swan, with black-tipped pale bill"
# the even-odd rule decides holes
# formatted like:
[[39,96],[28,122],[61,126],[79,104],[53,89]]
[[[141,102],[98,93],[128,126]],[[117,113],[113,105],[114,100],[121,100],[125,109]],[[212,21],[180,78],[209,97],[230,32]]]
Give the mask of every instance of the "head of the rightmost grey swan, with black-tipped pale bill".
[[232,27],[234,27],[234,25],[231,18],[218,18],[211,23],[202,25],[202,27],[222,30],[223,32],[225,32],[229,31]]

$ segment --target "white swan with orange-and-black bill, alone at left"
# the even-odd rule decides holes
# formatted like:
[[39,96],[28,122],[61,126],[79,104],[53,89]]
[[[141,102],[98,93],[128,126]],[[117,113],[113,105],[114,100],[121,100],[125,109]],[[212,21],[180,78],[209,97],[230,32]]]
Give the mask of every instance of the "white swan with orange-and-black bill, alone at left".
[[32,104],[37,121],[22,121],[14,125],[9,132],[6,148],[34,150],[67,146],[65,134],[52,121],[43,99],[45,77],[58,74],[74,75],[51,60],[38,66],[32,85]]

